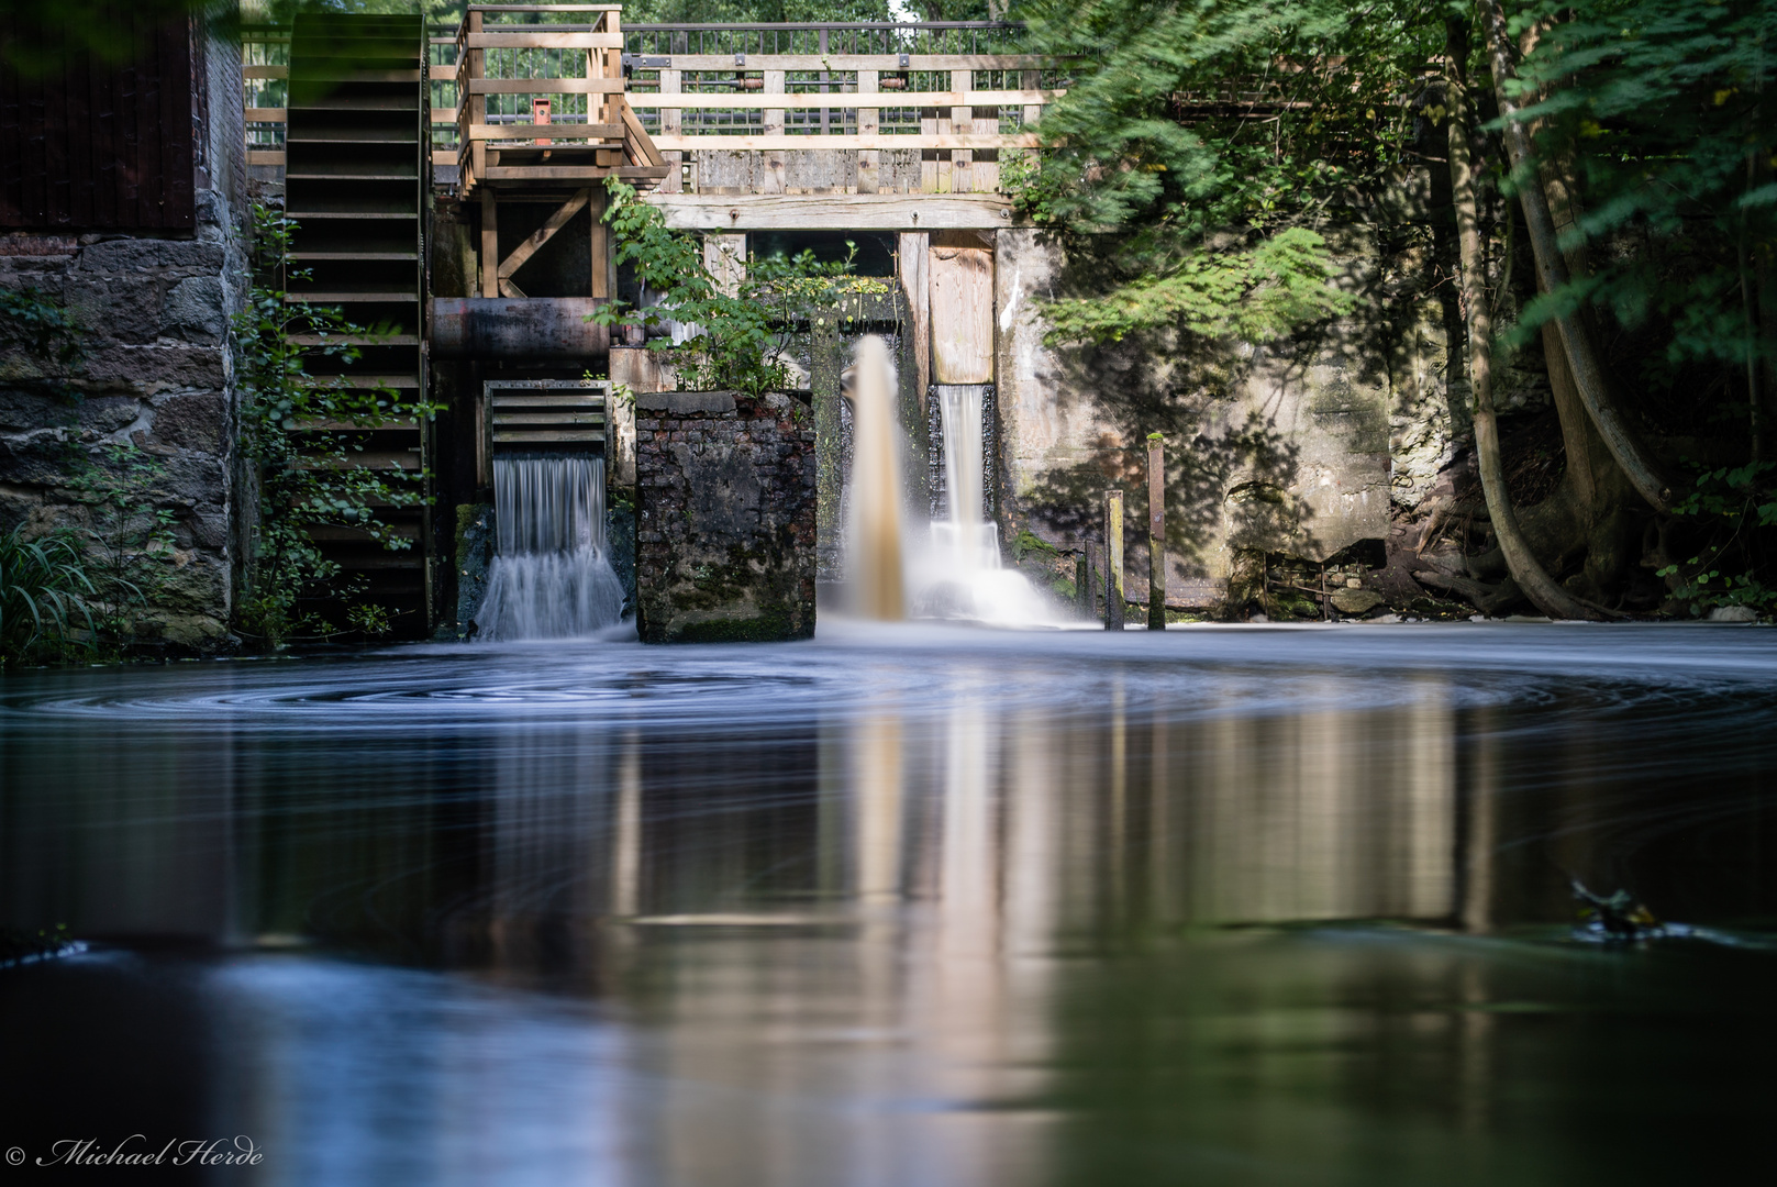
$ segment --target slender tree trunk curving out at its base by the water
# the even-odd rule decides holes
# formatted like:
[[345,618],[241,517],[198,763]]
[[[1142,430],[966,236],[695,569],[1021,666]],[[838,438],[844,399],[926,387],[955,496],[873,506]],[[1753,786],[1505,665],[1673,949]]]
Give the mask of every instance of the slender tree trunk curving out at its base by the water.
[[1455,204],[1457,243],[1462,263],[1462,306],[1468,315],[1468,373],[1475,393],[1475,460],[1480,469],[1480,489],[1487,498],[1487,517],[1493,535],[1500,540],[1505,565],[1525,592],[1525,597],[1550,618],[1596,618],[1567,590],[1555,585],[1548,570],[1525,544],[1518,530],[1518,514],[1505,487],[1505,466],[1500,460],[1500,426],[1493,412],[1493,316],[1487,313],[1487,277],[1480,259],[1480,211],[1475,201],[1475,172],[1470,165],[1468,142],[1468,87],[1462,71],[1468,64],[1468,28],[1461,18],[1448,20],[1448,107],[1450,107],[1450,194]]

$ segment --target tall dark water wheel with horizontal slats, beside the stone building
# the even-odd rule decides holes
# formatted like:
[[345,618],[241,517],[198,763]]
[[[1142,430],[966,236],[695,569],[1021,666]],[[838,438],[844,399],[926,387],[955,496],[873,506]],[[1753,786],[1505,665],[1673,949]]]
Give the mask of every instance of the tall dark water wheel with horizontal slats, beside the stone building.
[[[322,354],[316,334],[299,332],[291,341],[315,348],[307,354],[311,375],[387,387],[403,403],[426,391],[425,46],[418,16],[320,12],[297,16],[290,44],[284,210],[299,224],[290,267],[307,275],[291,279],[286,300],[334,306],[379,331],[352,339],[363,355],[350,364]],[[354,464],[412,474],[428,464],[421,418],[375,430],[322,423],[304,430],[348,439]],[[380,604],[396,634],[423,636],[430,620],[430,515],[425,506],[384,506],[379,515],[412,547],[386,549],[357,528],[313,528],[309,535],[341,574],[336,597],[309,608],[341,624],[345,602]]]

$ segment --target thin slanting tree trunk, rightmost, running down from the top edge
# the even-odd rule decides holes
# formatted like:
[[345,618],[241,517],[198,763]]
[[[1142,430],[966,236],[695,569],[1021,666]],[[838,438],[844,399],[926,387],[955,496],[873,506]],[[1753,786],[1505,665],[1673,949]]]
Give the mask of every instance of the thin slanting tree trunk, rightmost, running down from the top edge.
[[[1537,281],[1544,291],[1553,293],[1567,284],[1567,261],[1562,258],[1555,220],[1537,176],[1530,128],[1518,117],[1518,103],[1505,92],[1505,82],[1512,76],[1512,41],[1505,28],[1505,11],[1500,0],[1475,0],[1475,7],[1487,32],[1493,84],[1500,100],[1500,116],[1505,119],[1505,147],[1514,171],[1521,174],[1519,201],[1525,208],[1525,226],[1530,229],[1530,251],[1537,259]],[[1670,510],[1672,480],[1667,478],[1665,469],[1617,410],[1603,359],[1585,320],[1573,313],[1555,318],[1555,325],[1560,331],[1574,386],[1580,389],[1587,414],[1598,425],[1598,434],[1610,446],[1610,455],[1654,510]]]

